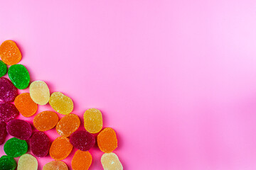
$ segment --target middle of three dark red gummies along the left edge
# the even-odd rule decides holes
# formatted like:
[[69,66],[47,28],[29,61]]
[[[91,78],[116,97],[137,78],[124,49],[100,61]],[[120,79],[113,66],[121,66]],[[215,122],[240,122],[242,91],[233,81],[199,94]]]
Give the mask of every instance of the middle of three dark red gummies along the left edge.
[[12,103],[0,103],[0,122],[8,122],[16,118],[18,110]]

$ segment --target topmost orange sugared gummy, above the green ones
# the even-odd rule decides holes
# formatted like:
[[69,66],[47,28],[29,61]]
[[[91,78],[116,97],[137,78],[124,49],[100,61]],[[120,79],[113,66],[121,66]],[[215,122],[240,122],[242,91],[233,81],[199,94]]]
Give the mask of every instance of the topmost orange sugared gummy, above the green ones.
[[14,41],[6,40],[0,45],[0,57],[5,64],[14,65],[21,61],[21,52]]

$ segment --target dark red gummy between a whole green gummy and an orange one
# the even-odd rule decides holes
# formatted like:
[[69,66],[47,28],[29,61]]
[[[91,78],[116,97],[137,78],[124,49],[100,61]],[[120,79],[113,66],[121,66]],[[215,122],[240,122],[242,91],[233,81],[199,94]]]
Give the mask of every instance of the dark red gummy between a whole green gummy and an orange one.
[[44,132],[34,132],[31,137],[31,151],[36,157],[46,157],[50,149],[50,139]]

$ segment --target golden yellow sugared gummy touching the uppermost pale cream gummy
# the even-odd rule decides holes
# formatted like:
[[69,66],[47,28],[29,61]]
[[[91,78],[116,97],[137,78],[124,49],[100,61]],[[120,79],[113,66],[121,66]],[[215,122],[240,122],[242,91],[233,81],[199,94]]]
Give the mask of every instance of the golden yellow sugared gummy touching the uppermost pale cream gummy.
[[74,107],[72,99],[60,92],[54,92],[51,94],[49,103],[54,111],[63,115],[71,113]]

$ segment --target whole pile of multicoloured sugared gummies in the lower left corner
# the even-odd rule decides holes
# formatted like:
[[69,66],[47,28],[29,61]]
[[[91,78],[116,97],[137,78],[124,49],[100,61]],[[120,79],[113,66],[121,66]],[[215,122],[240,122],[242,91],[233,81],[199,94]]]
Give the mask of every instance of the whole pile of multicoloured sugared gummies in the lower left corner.
[[[78,130],[80,119],[73,111],[73,101],[61,92],[50,94],[44,81],[33,81],[29,86],[29,93],[18,94],[18,89],[26,89],[30,83],[30,76],[26,67],[18,64],[21,52],[14,41],[6,40],[0,46],[0,145],[4,144],[4,152],[0,158],[0,170],[36,170],[37,159],[42,159],[50,154],[54,159],[43,166],[43,170],[68,170],[68,166],[61,160],[68,157],[75,148],[77,151],[72,159],[71,166],[74,170],[89,169],[92,164],[92,155],[88,152],[97,146],[104,154],[101,158],[103,169],[123,169],[116,154],[117,135],[112,128],[102,130],[102,113],[96,108],[85,111],[85,130]],[[9,79],[3,77],[7,72]],[[14,103],[12,103],[14,101]],[[47,103],[54,111],[43,111],[33,118],[33,126],[25,120],[18,120],[19,113],[26,118],[35,115],[38,105]],[[59,120],[58,114],[65,115]],[[56,129],[58,135],[53,142],[50,141],[45,131]],[[35,129],[35,130],[33,130]],[[33,132],[34,131],[34,132]],[[6,135],[13,136],[6,140]],[[32,154],[28,152],[28,145]],[[15,161],[18,159],[18,166]]]

